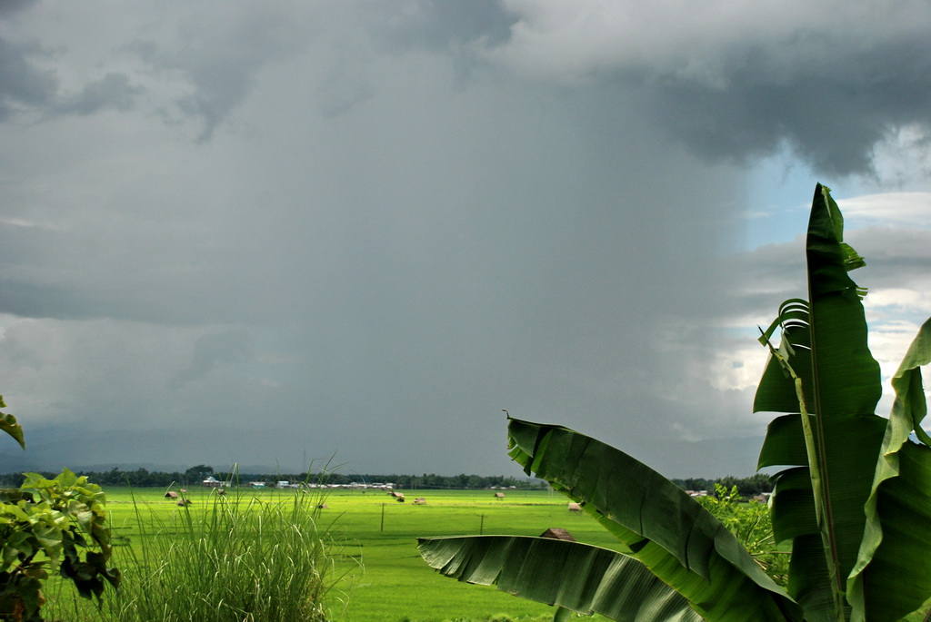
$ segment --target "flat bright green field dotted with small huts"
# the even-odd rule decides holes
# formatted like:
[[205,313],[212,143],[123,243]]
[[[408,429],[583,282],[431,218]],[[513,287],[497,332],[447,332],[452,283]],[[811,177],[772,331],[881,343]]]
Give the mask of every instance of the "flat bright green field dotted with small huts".
[[[170,525],[185,510],[164,498],[163,490],[108,487],[107,510],[119,536],[116,564],[127,567],[131,552],[146,537],[143,520]],[[547,528],[568,529],[580,541],[610,547],[611,536],[592,519],[567,510],[564,497],[543,491],[507,491],[503,499],[492,491],[404,491],[405,503],[384,492],[331,491],[321,510],[321,523],[332,536],[334,572],[342,578],[331,591],[335,622],[441,622],[490,619],[546,620],[552,608],[526,602],[493,588],[469,586],[429,569],[417,553],[417,536],[518,534],[539,536]],[[190,511],[209,508],[211,491],[189,491]],[[230,491],[243,502],[252,496],[286,501],[292,490]],[[423,496],[425,505],[414,505]],[[61,598],[70,599],[67,589]],[[53,596],[54,598],[54,596]],[[504,617],[506,615],[506,617]],[[588,620],[605,619],[600,616]]]

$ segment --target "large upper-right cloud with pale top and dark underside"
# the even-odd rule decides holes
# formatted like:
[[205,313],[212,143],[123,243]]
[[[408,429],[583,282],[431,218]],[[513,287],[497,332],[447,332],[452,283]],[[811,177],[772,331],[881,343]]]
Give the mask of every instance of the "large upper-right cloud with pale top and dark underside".
[[579,88],[615,82],[703,158],[788,147],[822,173],[867,173],[898,128],[931,130],[925,2],[506,7],[519,21],[487,59]]

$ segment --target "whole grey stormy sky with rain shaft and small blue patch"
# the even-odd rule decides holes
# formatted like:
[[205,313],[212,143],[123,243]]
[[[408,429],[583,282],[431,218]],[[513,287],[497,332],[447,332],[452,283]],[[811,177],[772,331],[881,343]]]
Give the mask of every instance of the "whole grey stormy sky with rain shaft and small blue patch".
[[[924,0],[0,3],[0,378],[114,466],[521,476],[506,410],[748,476],[817,182],[931,314]],[[888,410],[884,397],[880,412]]]

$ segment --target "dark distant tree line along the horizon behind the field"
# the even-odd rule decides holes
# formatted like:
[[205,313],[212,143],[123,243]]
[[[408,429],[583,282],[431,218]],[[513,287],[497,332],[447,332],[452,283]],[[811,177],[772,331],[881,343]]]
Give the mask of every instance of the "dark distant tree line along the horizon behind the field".
[[[53,478],[56,473],[41,472],[44,477]],[[215,477],[221,482],[230,482],[233,485],[249,484],[250,482],[262,482],[273,485],[277,482],[288,481],[290,483],[331,483],[331,484],[348,484],[348,483],[393,483],[395,488],[404,490],[419,489],[484,489],[492,487],[510,488],[514,486],[521,490],[528,489],[546,489],[548,484],[543,480],[515,478],[505,475],[437,475],[430,473],[423,475],[400,475],[392,474],[359,474],[353,473],[346,475],[344,473],[229,473],[223,470],[214,470],[208,465],[197,465],[184,471],[160,471],[160,470],[121,470],[114,467],[111,470],[88,471],[84,470],[80,475],[87,475],[88,480],[98,483],[101,486],[106,485],[132,485],[140,488],[162,487],[168,488],[175,484],[178,486],[196,486],[202,483],[210,476]],[[19,486],[24,476],[22,473],[7,473],[0,475],[0,484],[7,486]],[[773,490],[773,483],[768,475],[760,473],[750,477],[734,477],[728,475],[718,479],[707,478],[687,478],[683,480],[672,480],[684,490],[707,490],[709,493],[714,492],[714,484],[720,483],[728,490],[737,487],[740,496],[749,497],[768,493]]]

